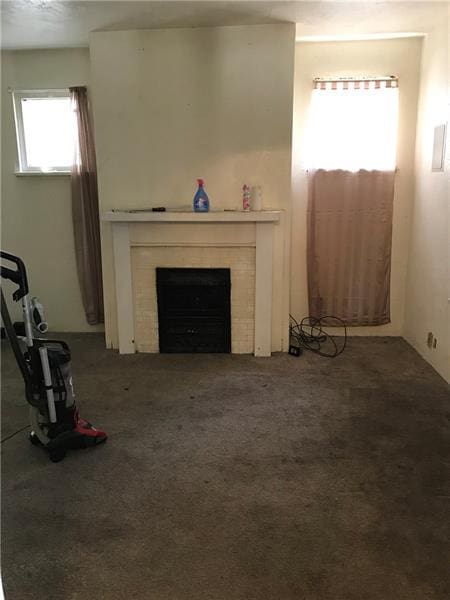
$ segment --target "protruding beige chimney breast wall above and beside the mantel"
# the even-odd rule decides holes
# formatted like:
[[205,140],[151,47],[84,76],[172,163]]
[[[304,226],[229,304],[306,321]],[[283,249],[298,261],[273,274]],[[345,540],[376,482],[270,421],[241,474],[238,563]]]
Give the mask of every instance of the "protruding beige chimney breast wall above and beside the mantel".
[[[204,177],[212,208],[239,208],[248,183],[262,187],[263,208],[289,211],[294,36],[293,25],[93,33],[100,210],[190,209]],[[288,330],[282,227],[274,350]],[[102,252],[107,344],[117,347],[109,224]]]

